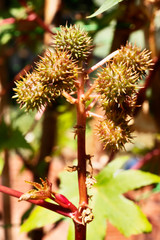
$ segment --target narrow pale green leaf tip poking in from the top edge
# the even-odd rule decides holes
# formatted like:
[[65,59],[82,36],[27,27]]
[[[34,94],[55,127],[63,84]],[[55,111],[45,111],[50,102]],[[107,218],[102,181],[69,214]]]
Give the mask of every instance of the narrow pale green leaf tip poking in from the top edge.
[[106,0],[98,10],[93,13],[92,15],[88,16],[87,18],[95,17],[105,11],[107,11],[109,8],[113,7],[114,5],[118,4],[119,2],[122,2],[123,0]]

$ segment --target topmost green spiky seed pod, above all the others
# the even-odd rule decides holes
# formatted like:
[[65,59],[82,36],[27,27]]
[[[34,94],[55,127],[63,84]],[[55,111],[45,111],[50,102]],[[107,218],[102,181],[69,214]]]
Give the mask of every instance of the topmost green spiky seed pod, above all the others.
[[76,25],[61,26],[54,36],[53,47],[60,51],[68,51],[72,58],[78,61],[85,61],[93,49],[88,33]]

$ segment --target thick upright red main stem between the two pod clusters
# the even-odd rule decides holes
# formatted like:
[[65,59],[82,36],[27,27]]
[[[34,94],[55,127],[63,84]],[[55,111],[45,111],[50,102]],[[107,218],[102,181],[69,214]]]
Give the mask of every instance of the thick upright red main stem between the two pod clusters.
[[[79,205],[88,204],[86,188],[86,151],[85,151],[85,132],[86,132],[86,109],[84,103],[84,75],[79,76],[79,87],[77,89],[77,157],[78,157],[78,186],[79,186]],[[86,239],[86,225],[75,223],[75,240]]]

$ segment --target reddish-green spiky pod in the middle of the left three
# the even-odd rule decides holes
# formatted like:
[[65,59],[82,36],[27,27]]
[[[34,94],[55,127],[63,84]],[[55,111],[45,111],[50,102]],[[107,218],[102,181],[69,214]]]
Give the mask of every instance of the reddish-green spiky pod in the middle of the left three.
[[36,71],[55,95],[60,95],[63,90],[71,92],[75,87],[79,69],[68,52],[47,50],[36,65]]

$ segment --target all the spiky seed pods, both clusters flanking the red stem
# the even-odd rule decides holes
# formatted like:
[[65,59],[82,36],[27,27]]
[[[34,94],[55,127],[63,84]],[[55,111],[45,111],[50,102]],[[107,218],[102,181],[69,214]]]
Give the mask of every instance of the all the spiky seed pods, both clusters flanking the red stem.
[[[77,87],[81,63],[92,51],[92,40],[76,25],[60,27],[54,36],[53,50],[46,50],[32,73],[16,82],[17,101],[26,110],[41,109],[64,91]],[[105,112],[97,125],[104,148],[117,150],[131,140],[129,120],[136,107],[138,81],[150,69],[150,52],[127,44],[98,74],[96,91]]]

